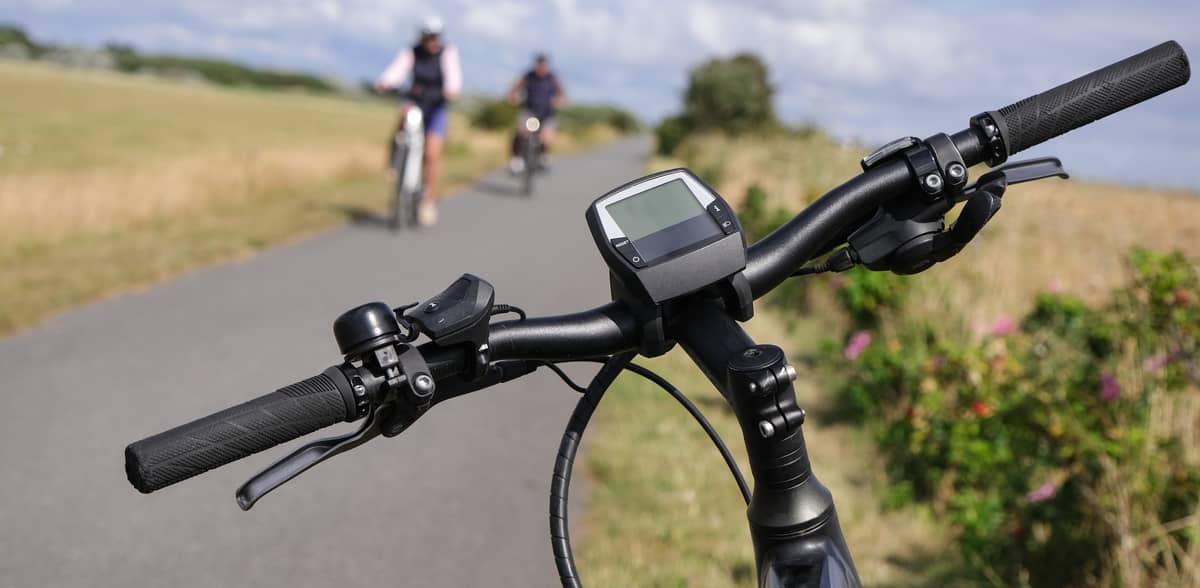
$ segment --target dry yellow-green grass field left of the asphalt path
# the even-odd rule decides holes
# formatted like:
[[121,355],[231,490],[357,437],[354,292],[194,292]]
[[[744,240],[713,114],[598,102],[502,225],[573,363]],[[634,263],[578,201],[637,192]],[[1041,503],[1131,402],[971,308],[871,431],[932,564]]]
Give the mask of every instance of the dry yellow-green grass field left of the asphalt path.
[[[12,61],[0,88],[0,335],[385,208],[382,101]],[[448,188],[504,161],[502,133],[451,127]]]

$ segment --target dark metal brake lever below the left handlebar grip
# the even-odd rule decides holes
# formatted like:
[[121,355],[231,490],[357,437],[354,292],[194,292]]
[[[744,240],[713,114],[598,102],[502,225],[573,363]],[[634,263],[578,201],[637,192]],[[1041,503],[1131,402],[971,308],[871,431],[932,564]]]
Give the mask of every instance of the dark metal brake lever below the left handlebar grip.
[[[289,482],[293,478],[305,473],[308,468],[329,460],[338,454],[344,454],[364,443],[379,437],[383,433],[382,424],[388,420],[394,412],[395,404],[386,403],[371,410],[367,420],[358,431],[341,437],[329,437],[312,442],[287,457],[270,464],[266,469],[254,474],[253,478],[238,488],[238,506],[241,510],[250,510],[259,498],[263,498],[272,490]],[[385,414],[379,414],[385,413]]]

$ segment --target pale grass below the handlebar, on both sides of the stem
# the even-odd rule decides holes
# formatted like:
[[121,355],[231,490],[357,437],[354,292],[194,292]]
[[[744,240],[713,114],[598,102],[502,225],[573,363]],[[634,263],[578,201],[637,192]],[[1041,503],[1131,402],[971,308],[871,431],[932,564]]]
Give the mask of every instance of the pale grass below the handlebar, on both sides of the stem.
[[[787,331],[772,312],[748,325],[757,341],[809,353],[818,322]],[[696,402],[749,474],[737,420],[682,350],[649,360]],[[828,398],[802,373],[797,398],[820,414]],[[814,410],[816,409],[816,410]],[[944,532],[916,510],[883,511],[882,467],[862,431],[809,419],[816,475],[836,497],[842,530],[868,586],[943,586],[953,570]],[[624,376],[584,442],[592,485],[577,540],[580,574],[595,586],[757,586],[745,508],[708,438],[665,392]]]

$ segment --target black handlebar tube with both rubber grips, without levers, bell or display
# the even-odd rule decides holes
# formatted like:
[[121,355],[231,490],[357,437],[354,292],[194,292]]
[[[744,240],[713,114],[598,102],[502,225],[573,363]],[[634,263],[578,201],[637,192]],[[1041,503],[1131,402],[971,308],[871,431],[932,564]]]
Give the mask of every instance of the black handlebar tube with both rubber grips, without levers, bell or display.
[[[1182,85],[1188,59],[1174,41],[1124,59],[1045,92],[986,113],[1000,127],[1009,155]],[[962,162],[988,158],[985,131],[972,126],[950,139]],[[745,277],[755,298],[797,269],[845,241],[847,228],[888,199],[911,190],[913,172],[904,160],[884,161],[818,198],[794,218],[749,248]],[[559,317],[491,325],[491,360],[572,360],[635,349],[637,322],[620,302]],[[438,382],[462,376],[472,349],[420,346]],[[516,376],[518,377],[518,376]],[[209,469],[295,439],[318,428],[355,420],[346,374],[337,367],[266,396],[136,442],[126,448],[126,473],[149,493]]]

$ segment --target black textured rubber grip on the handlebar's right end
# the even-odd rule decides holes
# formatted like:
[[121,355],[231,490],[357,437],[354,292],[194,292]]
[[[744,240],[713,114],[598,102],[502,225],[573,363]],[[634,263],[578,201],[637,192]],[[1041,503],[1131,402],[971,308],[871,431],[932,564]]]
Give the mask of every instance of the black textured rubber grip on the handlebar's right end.
[[1188,55],[1168,41],[1001,108],[1008,155],[1153,98],[1188,82]]

